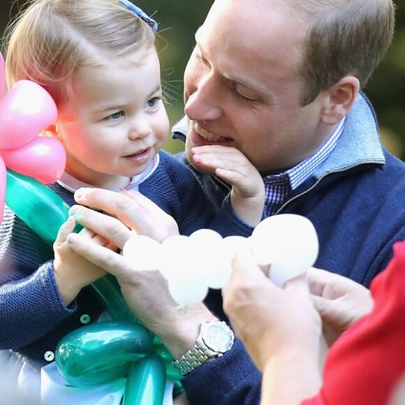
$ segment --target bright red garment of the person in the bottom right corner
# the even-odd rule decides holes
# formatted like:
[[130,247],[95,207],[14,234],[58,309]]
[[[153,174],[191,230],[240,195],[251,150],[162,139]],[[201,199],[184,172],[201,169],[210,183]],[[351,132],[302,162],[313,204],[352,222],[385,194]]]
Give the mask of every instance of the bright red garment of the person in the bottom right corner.
[[385,405],[405,376],[405,241],[372,281],[374,308],[331,346],[323,387],[302,405]]

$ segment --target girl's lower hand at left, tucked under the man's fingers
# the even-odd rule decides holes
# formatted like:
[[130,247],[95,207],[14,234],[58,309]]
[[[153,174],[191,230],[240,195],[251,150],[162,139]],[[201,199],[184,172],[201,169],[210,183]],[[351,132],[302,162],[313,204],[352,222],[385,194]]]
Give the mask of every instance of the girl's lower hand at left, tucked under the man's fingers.
[[[54,277],[66,306],[71,304],[83,287],[101,279],[105,275],[105,271],[101,267],[89,262],[89,260],[70,248],[66,242],[66,237],[73,231],[73,228],[75,228],[75,219],[70,216],[59,228],[57,239],[53,245]],[[94,244],[106,246],[108,249],[117,249],[108,240],[96,235],[91,230],[82,229],[80,234]]]

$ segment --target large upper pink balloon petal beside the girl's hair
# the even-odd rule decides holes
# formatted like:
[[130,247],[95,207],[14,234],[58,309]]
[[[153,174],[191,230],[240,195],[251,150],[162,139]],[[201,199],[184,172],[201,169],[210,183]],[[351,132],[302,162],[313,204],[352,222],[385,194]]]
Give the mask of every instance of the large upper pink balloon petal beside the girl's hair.
[[57,106],[39,84],[20,80],[0,101],[0,149],[34,139],[57,119]]

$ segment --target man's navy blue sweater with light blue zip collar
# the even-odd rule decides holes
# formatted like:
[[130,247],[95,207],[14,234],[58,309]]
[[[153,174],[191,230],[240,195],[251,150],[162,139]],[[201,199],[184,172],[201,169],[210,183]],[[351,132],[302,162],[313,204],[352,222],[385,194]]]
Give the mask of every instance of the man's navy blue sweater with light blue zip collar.
[[[186,163],[184,156],[181,159]],[[195,175],[213,205],[221,207],[229,186]],[[405,239],[405,164],[381,147],[374,110],[364,94],[348,114],[332,154],[279,213],[300,214],[314,223],[320,242],[316,267],[367,287],[385,269],[392,244]],[[211,290],[206,304],[226,320],[219,291]],[[260,402],[261,374],[239,340],[226,355],[197,367],[182,383],[191,405]]]

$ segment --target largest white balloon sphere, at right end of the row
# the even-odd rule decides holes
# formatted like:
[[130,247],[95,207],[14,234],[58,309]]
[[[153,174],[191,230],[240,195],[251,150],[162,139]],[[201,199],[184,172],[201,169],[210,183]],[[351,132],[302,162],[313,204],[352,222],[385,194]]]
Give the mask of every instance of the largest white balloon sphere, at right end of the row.
[[271,264],[270,279],[278,286],[304,273],[318,257],[314,225],[296,214],[267,217],[256,226],[249,240],[256,263]]

